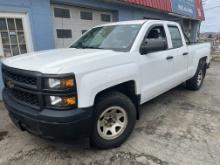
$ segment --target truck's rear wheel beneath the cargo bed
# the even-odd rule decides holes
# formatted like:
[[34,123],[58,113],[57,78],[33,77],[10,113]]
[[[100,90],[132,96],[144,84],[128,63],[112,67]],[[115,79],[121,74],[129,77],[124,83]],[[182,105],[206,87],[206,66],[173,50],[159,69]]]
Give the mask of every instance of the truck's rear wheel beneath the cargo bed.
[[205,75],[206,75],[205,60],[200,60],[194,77],[186,81],[186,88],[194,91],[199,90],[202,87]]

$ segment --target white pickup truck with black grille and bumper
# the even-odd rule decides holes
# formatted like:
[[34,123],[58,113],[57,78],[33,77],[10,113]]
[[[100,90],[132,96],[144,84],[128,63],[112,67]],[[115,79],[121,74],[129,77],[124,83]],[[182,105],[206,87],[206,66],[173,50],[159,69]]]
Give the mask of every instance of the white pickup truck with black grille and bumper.
[[134,129],[141,104],[184,82],[200,89],[210,50],[209,43],[187,45],[175,22],[97,26],[67,49],[3,60],[3,100],[21,130],[117,147]]

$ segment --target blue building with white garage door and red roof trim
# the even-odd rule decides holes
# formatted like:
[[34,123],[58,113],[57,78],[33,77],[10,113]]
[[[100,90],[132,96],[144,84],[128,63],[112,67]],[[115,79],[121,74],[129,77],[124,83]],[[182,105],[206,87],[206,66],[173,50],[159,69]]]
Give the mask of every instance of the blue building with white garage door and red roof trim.
[[201,0],[0,0],[0,58],[68,47],[93,26],[135,19],[177,21],[196,41],[204,12]]

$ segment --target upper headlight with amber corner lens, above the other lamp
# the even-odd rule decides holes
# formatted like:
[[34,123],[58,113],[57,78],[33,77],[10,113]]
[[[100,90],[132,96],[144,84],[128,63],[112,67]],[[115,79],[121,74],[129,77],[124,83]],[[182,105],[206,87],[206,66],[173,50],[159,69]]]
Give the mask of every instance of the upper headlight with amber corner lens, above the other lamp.
[[75,82],[73,78],[67,79],[57,79],[57,78],[48,78],[47,84],[48,89],[71,89],[75,86]]

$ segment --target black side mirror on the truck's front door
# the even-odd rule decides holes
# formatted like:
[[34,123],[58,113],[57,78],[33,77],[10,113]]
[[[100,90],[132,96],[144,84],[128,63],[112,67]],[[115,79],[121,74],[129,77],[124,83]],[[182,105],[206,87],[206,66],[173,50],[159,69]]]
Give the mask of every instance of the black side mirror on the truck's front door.
[[167,49],[167,42],[162,38],[145,39],[141,45],[141,55]]

